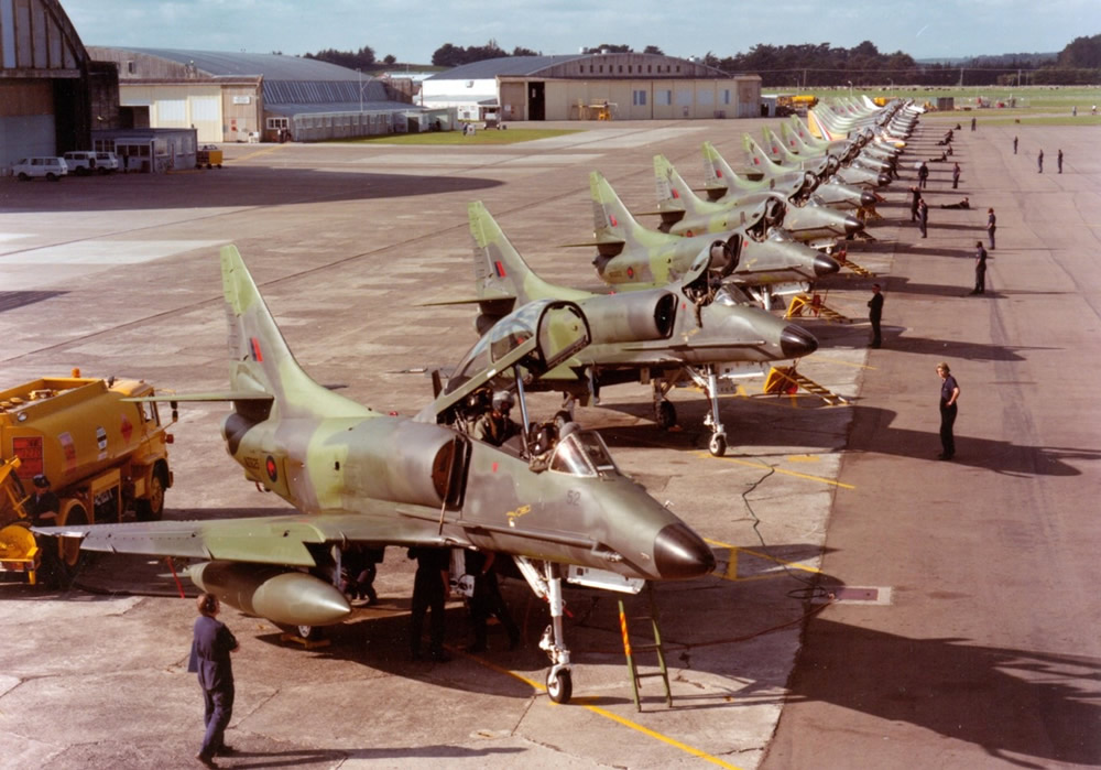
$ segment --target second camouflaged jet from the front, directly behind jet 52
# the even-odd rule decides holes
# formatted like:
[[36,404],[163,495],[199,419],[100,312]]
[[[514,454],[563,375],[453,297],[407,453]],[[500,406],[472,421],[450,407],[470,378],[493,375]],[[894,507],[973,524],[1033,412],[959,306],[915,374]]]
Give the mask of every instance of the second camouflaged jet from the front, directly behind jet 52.
[[721,289],[721,280],[733,268],[733,256],[721,240],[707,243],[675,283],[592,294],[539,278],[480,202],[470,204],[468,213],[481,308],[479,329],[499,323],[501,314],[515,307],[548,299],[577,303],[589,321],[592,344],[537,384],[567,393],[567,404],[574,398],[584,403],[599,397],[603,386],[648,381],[654,417],[663,427],[672,427],[676,410],[665,397],[677,383],[690,380],[707,394],[708,448],[721,457],[727,434],[719,416],[718,380],[763,375],[770,364],[802,358],[818,347],[805,329]]

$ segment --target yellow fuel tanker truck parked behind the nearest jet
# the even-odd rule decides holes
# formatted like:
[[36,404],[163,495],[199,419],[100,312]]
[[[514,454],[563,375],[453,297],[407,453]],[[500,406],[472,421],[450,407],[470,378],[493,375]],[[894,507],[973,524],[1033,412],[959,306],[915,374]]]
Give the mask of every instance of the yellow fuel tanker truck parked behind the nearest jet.
[[[166,429],[175,415],[162,423],[155,403],[126,400],[153,394],[144,380],[81,378],[79,371],[0,391],[0,466],[14,471],[0,479],[9,485],[0,497],[23,496],[41,475],[58,498],[57,525],[117,522],[131,511],[139,520],[160,519],[172,486]],[[0,542],[26,542],[3,533],[29,527],[33,497],[0,507]],[[63,571],[76,566],[75,541],[57,538],[44,547],[59,547]]]

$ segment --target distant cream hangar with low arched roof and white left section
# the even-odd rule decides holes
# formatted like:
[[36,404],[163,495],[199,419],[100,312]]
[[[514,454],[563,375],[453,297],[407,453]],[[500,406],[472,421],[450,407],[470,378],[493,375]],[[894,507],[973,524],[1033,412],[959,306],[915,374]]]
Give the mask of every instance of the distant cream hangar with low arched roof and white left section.
[[508,56],[434,75],[421,93],[466,120],[752,118],[761,77],[659,54]]

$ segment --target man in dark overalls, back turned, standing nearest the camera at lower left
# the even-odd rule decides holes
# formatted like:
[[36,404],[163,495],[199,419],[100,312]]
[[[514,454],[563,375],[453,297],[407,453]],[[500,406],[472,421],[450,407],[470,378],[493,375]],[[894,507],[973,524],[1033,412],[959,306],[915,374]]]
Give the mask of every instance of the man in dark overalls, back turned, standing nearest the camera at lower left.
[[226,727],[233,716],[233,664],[229,654],[237,652],[238,644],[226,623],[215,617],[220,609],[217,596],[199,594],[199,617],[195,620],[192,658],[187,664],[188,671],[198,674],[206,705],[203,717],[206,735],[195,758],[208,768],[218,767],[214,761],[216,755],[233,753],[233,748],[226,745]]

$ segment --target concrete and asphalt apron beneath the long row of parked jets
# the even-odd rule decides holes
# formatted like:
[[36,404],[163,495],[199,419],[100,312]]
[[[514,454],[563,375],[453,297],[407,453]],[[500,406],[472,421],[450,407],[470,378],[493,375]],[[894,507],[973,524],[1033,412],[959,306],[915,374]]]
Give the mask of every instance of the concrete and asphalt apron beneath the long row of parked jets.
[[[453,365],[475,341],[469,307],[416,304],[472,294],[469,200],[486,202],[545,278],[593,288],[591,254],[557,247],[591,234],[588,171],[602,171],[633,210],[651,210],[653,154],[666,154],[699,184],[701,141],[735,159],[742,133],[757,133],[762,122],[612,123],[498,148],[239,145],[227,148],[222,170],[54,185],[2,180],[3,384],[79,366],[179,392],[222,389],[217,248],[235,242],[315,379],[377,409],[413,413],[430,395],[421,368]],[[928,156],[939,154],[931,138],[942,133],[930,122],[915,148]],[[1083,478],[1099,451],[1097,411],[1089,380],[1071,367],[1098,361],[1097,250],[1075,245],[1095,246],[1098,223],[1086,220],[1101,208],[1087,196],[1095,203],[1101,176],[1077,160],[1088,158],[1087,132],[1035,129],[1037,138],[1064,141],[1077,164],[1077,178],[1066,173],[1068,161],[1062,177],[1045,170],[1043,183],[1077,187],[1014,193],[1014,181],[1034,181],[1006,170],[1034,169],[1025,158],[1005,158],[1011,137],[999,131],[961,134],[957,144],[968,153],[960,193],[999,210],[1004,247],[992,254],[984,297],[957,296],[969,289],[967,257],[984,215],[935,208],[930,238],[915,240],[916,229],[902,221],[904,178],[887,193],[886,219],[872,227],[880,240],[852,252],[891,274],[884,349],[868,357],[866,324],[805,323],[822,347],[800,371],[854,405],[762,397],[759,384],[748,384],[723,400],[732,444],[723,459],[707,454],[698,393],[673,394],[684,429],[674,433],[653,425],[641,387],[609,389],[601,405],[580,410],[624,470],[669,500],[720,562],[705,581],[657,590],[672,709],[651,679],[635,712],[617,597],[596,592],[567,595],[570,706],[555,706],[542,690],[545,657],[535,643],[546,611],[520,583],[505,593],[524,629],[521,649],[509,651],[491,629],[488,653],[462,653],[466,610],[453,603],[455,660],[411,662],[413,567],[390,549],[377,582],[380,605],[335,629],[328,647],[299,649],[266,621],[227,609],[224,619],[242,642],[228,733],[241,753],[219,762],[1097,763],[1095,738],[1067,744],[1084,735],[1078,726],[1097,724],[1092,707],[1081,705],[1095,691],[1098,661],[1086,632],[1097,617],[1086,590],[1097,536]],[[1046,154],[1054,165],[1054,151]],[[935,202],[950,187],[948,169],[931,176]],[[1043,215],[1035,207],[1048,196],[1039,192],[1051,200]],[[1046,272],[1033,269],[1040,251]],[[827,302],[860,317],[870,283],[835,279]],[[994,310],[1003,305],[1012,307],[1005,317]],[[1070,349],[1080,355],[1059,355]],[[930,462],[933,365],[940,358],[952,362],[964,391],[951,464]],[[1058,398],[1045,400],[1053,391]],[[543,415],[557,405],[552,395],[534,402]],[[243,484],[224,454],[224,413],[217,404],[182,411],[167,517],[285,510]],[[201,731],[199,691],[184,671],[193,603],[174,595],[163,562],[101,557],[80,584],[85,590],[64,594],[0,584],[4,761],[186,766]],[[837,593],[846,584],[883,590],[874,601],[852,593],[861,605],[824,603],[822,585]],[[1003,596],[999,586],[1025,590]],[[644,606],[641,597],[626,604],[631,615]],[[634,632],[636,643],[643,638]],[[935,705],[942,699],[951,706],[946,714]],[[979,704],[1021,727],[985,725]],[[955,734],[952,719],[962,725]]]

